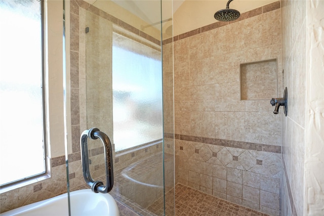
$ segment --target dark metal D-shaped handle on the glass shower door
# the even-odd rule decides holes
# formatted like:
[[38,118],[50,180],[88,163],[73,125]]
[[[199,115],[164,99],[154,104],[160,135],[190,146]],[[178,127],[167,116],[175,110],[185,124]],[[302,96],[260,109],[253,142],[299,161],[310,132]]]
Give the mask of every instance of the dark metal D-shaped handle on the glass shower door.
[[[105,155],[105,164],[106,164],[106,186],[103,185],[103,182],[94,181],[90,175],[89,169],[89,155],[88,155],[88,138],[92,140],[100,139],[104,145],[104,155]],[[91,187],[92,191],[95,193],[108,193],[111,191],[113,186],[113,168],[112,168],[112,149],[111,143],[108,136],[101,132],[98,128],[91,128],[82,133],[80,138],[80,146],[82,153],[82,168],[83,168],[83,177],[86,180],[86,183]]]

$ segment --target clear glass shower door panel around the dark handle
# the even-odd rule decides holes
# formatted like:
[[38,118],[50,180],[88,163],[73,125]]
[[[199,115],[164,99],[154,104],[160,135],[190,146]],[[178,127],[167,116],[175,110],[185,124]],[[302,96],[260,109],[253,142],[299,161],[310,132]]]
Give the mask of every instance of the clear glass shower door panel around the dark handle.
[[[164,154],[161,3],[89,3],[69,2],[70,191],[89,188],[82,175],[78,141],[80,133],[96,127],[112,144],[114,183],[109,194],[120,212],[164,215],[166,189],[174,186],[174,157],[171,149],[168,157]],[[104,149],[99,140],[88,139],[88,155],[91,177],[106,185]],[[167,188],[165,164],[171,176]]]

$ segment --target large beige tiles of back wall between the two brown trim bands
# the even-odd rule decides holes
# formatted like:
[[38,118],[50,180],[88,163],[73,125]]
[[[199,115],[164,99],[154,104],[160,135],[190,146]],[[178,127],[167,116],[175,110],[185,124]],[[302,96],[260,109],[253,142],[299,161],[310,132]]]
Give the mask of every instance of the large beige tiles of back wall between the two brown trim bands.
[[[239,83],[239,65],[244,63],[277,59],[277,72],[281,74],[279,14],[280,10],[271,11],[174,42],[176,134],[280,145],[281,128],[277,122],[280,121],[281,116],[272,115],[269,112],[268,100],[241,101]],[[245,41],[246,44],[251,41],[251,44],[248,44],[250,48],[247,46],[245,49],[235,51],[237,48],[233,45],[233,51],[230,51],[230,49],[220,45],[228,42],[225,39],[226,37],[222,35],[223,31],[230,29],[235,29],[233,30],[235,32],[243,31],[242,29],[253,25],[250,22],[262,22],[262,17],[266,17],[263,19],[267,20],[269,31],[262,29],[255,29],[255,31],[266,32],[264,39],[262,35],[259,35],[260,40],[264,40],[264,46],[259,47],[260,45],[258,45],[254,48],[254,42],[251,39],[253,33],[250,33],[250,37],[246,35],[245,38],[249,38],[249,40],[244,40],[239,36],[234,37],[235,41],[240,41],[239,44],[242,43],[241,41]],[[271,32],[271,34],[268,35],[267,32]],[[207,36],[210,34],[213,37]],[[228,32],[227,34],[231,33]],[[194,56],[193,54],[197,53],[195,49],[191,49],[191,41],[199,37],[209,38],[209,41],[205,41],[204,44],[214,48],[213,55],[208,58],[192,59],[192,57],[190,59],[189,56]],[[269,44],[269,38],[273,38],[275,41]],[[195,46],[195,43],[193,46]],[[204,50],[204,48],[201,48],[201,50]],[[219,50],[224,50],[224,53],[219,54]],[[281,76],[278,76],[278,82],[281,85]],[[272,97],[279,95],[281,95],[281,91],[278,95]],[[261,107],[255,106],[254,103],[263,104],[261,107],[264,109],[261,110]],[[235,115],[237,116],[244,115],[245,120],[242,121],[242,118],[235,118],[233,115],[230,115],[233,116],[232,118],[226,117],[226,113],[218,113],[233,111],[236,111]],[[219,119],[219,116],[226,118],[226,121]],[[259,120],[260,118],[264,119]],[[205,122],[201,124],[200,119],[204,119]],[[245,127],[238,126],[242,123],[245,124]],[[258,124],[258,126],[251,127],[250,124]],[[236,128],[228,128],[228,125],[236,125]],[[237,130],[237,127],[240,130]],[[264,130],[262,127],[271,129]]]

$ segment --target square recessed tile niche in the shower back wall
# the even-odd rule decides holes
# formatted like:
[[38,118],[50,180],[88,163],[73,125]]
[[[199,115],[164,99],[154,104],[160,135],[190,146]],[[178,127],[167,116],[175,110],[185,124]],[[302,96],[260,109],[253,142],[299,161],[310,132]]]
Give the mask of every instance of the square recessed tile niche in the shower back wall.
[[277,97],[277,60],[240,64],[241,100]]

